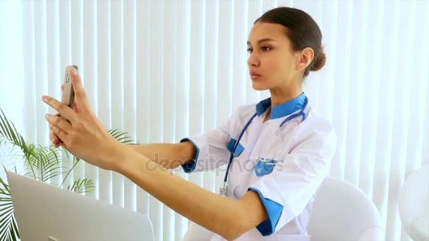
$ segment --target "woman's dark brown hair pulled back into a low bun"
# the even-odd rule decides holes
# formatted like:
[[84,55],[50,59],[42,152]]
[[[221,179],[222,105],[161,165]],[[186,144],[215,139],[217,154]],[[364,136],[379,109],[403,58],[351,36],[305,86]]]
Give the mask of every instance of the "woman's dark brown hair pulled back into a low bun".
[[306,78],[310,71],[317,71],[325,66],[322,32],[308,13],[296,8],[279,7],[262,14],[255,20],[254,24],[256,23],[278,23],[286,27],[286,36],[290,39],[294,51],[300,51],[306,47],[313,49],[313,61],[304,70],[303,78]]

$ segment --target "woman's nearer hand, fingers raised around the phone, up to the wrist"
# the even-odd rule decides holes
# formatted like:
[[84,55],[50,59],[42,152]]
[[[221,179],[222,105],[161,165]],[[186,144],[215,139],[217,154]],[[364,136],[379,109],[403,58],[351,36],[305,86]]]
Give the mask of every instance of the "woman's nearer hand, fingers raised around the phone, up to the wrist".
[[71,68],[69,75],[75,92],[75,107],[78,109],[73,111],[66,104],[44,96],[42,100],[61,116],[47,114],[45,118],[68,152],[92,165],[114,170],[117,161],[115,156],[123,151],[121,143],[109,135],[92,113],[78,71]]

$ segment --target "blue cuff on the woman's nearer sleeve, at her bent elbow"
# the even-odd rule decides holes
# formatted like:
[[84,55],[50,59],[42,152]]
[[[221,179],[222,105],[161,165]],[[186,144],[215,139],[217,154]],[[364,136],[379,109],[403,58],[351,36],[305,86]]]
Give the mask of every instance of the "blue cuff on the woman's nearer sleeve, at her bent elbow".
[[262,201],[262,204],[264,204],[265,210],[267,210],[268,214],[268,218],[256,226],[256,229],[258,229],[262,236],[272,235],[276,230],[280,216],[282,216],[283,205],[278,204],[277,202],[274,202],[270,199],[266,199],[262,193],[260,193],[260,190],[254,187],[249,187],[248,190],[255,191],[259,194],[260,200]]

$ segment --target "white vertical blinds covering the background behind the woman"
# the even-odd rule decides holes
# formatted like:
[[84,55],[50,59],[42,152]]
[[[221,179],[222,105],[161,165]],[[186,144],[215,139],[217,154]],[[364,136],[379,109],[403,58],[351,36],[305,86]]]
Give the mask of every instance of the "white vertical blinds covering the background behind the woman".
[[[61,97],[64,68],[75,64],[107,129],[141,144],[203,133],[269,97],[251,87],[246,41],[276,6],[301,8],[322,30],[327,64],[304,89],[337,132],[330,175],[373,199],[387,240],[407,240],[399,187],[429,163],[429,1],[0,1],[0,107],[27,142],[49,144],[52,110],[40,97]],[[12,88],[22,99],[13,105]],[[171,173],[216,192],[224,169]],[[157,240],[186,232],[186,218],[127,178],[81,162],[68,183],[83,177],[97,187],[88,196],[147,214]]]

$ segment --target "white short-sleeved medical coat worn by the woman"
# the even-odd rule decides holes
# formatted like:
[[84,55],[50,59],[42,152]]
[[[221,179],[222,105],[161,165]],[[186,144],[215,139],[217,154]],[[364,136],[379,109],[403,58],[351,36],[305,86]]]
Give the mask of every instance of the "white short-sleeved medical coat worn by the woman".
[[[226,197],[240,199],[249,190],[254,190],[260,195],[270,217],[270,221],[261,223],[236,240],[310,240],[306,226],[315,192],[330,171],[336,147],[334,128],[315,116],[308,104],[304,110],[306,120],[301,123],[301,117],[296,117],[285,123],[270,152],[264,156],[280,123],[289,116],[282,116],[282,111],[279,111],[282,106],[278,107],[275,108],[281,117],[272,110],[272,118],[279,118],[263,123],[268,112],[264,111],[253,119],[240,141],[244,150],[231,164]],[[183,165],[183,169],[190,173],[222,165],[226,168],[230,156],[227,146],[231,138],[237,140],[254,113],[255,104],[241,106],[217,129],[183,139],[193,142],[198,149],[196,161]],[[281,149],[282,152],[274,156],[279,162],[272,172],[256,175],[253,168],[258,158],[273,158],[272,154]],[[224,239],[213,234],[211,240]]]

